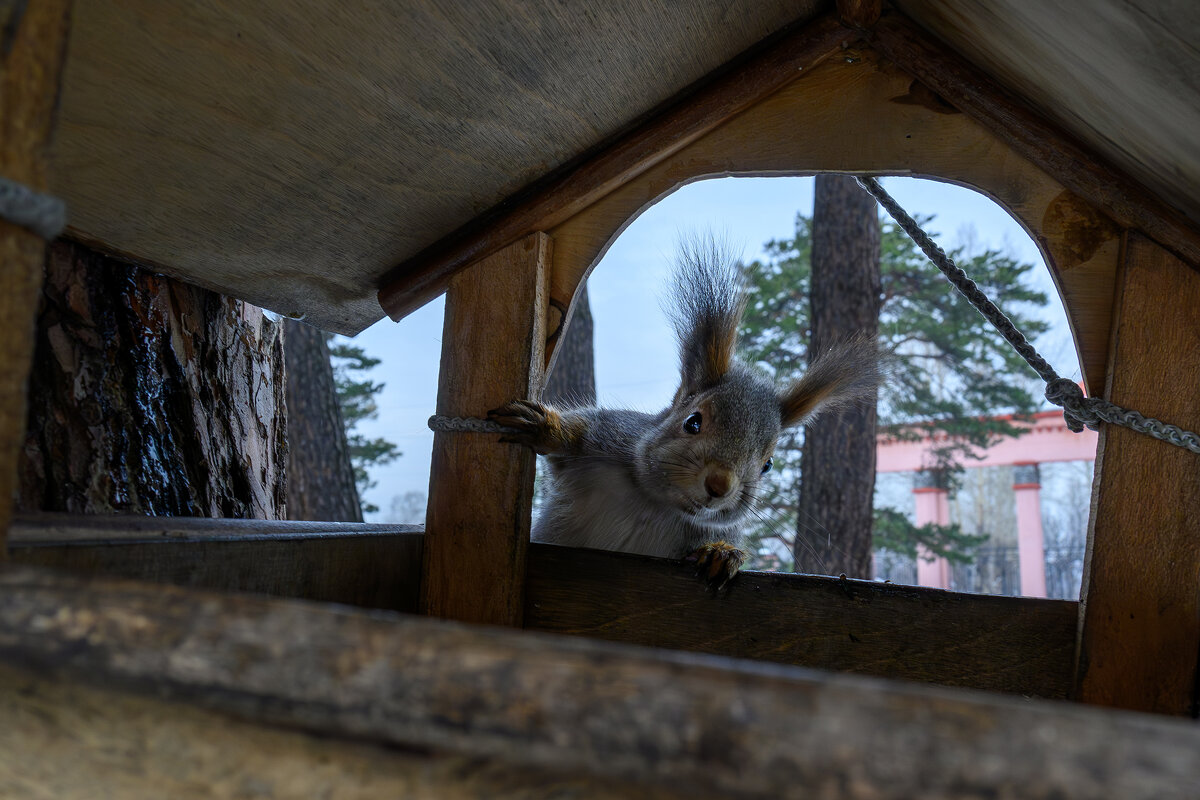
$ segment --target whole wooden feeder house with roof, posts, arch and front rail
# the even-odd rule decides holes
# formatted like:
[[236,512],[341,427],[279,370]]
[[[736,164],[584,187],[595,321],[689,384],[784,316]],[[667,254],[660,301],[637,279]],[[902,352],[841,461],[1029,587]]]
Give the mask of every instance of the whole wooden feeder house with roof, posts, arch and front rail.
[[[1038,242],[1090,393],[1200,427],[1194,10],[726,6],[0,5],[0,175],[325,330],[445,293],[437,411],[467,416],[536,397],[589,270],[679,186],[931,176]],[[424,530],[14,517],[44,245],[0,223],[2,794],[1200,793],[1193,453],[1102,431],[1079,602],[714,596],[530,546],[533,456],[486,435],[436,435]]]

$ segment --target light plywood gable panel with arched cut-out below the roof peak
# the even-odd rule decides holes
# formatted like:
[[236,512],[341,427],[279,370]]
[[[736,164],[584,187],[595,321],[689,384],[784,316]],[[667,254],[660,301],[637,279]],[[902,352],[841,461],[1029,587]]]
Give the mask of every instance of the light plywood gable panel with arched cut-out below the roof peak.
[[680,186],[817,172],[930,176],[1004,206],[1046,258],[1087,385],[1103,386],[1120,227],[871,50],[824,61],[551,230],[551,305],[566,308],[610,242]]

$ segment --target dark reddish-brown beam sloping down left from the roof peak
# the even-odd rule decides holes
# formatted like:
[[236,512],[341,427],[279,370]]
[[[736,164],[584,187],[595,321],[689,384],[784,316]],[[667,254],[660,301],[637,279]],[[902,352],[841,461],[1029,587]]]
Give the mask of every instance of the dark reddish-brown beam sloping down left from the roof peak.
[[379,305],[401,319],[445,291],[458,270],[571,217],[857,38],[833,17],[787,32],[617,140],[392,269],[382,281]]

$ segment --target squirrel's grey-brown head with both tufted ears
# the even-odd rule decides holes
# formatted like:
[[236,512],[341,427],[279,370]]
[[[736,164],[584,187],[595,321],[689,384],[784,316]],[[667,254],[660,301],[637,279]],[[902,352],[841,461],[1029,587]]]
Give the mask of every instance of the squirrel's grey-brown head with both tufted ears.
[[850,339],[776,390],[737,357],[745,294],[732,258],[712,241],[684,247],[672,299],[679,389],[638,445],[638,482],[694,522],[737,524],[751,513],[785,428],[875,391],[876,345]]

